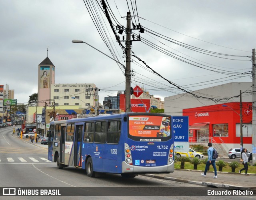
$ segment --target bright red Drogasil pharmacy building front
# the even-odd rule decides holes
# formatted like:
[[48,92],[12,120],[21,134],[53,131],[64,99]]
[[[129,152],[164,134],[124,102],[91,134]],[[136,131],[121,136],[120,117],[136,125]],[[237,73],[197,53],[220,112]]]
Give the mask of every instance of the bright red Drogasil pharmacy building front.
[[[240,102],[183,110],[189,116],[189,142],[213,142],[240,148]],[[252,103],[242,102],[243,147],[252,151]],[[229,150],[229,149],[228,149]],[[228,151],[227,150],[227,151]]]

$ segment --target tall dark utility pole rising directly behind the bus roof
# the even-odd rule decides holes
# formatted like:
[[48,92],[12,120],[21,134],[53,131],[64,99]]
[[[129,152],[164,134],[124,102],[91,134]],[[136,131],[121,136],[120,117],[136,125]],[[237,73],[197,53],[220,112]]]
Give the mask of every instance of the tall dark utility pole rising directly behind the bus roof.
[[125,69],[125,112],[130,112],[131,105],[131,13],[126,16],[126,69]]

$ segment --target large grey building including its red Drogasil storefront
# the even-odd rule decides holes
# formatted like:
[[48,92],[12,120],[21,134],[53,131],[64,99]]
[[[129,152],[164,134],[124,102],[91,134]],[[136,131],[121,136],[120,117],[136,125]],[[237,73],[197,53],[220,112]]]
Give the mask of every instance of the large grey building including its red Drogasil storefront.
[[[188,93],[169,96],[164,98],[164,112],[174,116],[189,116],[190,142],[207,144],[211,139],[221,144],[226,151],[229,148],[240,148],[241,90],[243,143],[252,151],[251,87],[251,82],[232,82],[192,92],[208,99],[199,99]],[[223,97],[227,99],[219,100]],[[246,112],[251,113],[247,115]]]

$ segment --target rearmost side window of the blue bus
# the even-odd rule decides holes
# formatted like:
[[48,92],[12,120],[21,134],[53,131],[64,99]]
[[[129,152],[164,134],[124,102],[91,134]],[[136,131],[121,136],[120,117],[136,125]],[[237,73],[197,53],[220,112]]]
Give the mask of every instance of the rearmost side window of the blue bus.
[[121,132],[120,124],[120,121],[108,122],[107,143],[118,144]]

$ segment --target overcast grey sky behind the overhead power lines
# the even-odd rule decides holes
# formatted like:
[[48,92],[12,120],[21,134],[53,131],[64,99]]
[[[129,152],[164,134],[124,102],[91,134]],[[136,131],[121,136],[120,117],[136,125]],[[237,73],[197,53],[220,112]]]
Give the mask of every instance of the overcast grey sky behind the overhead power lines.
[[[93,2],[119,62],[125,64],[123,51],[116,42],[106,16],[99,11],[96,0]],[[254,0],[136,0],[136,4],[135,0],[128,0],[131,15],[134,15],[131,2],[134,14],[139,16],[132,18],[134,24],[138,24],[139,20],[145,30],[158,36],[204,50],[237,56],[251,56],[252,49],[256,48]],[[108,4],[116,20],[126,27],[126,18],[121,16],[126,16],[129,11],[127,2],[108,0]],[[125,76],[116,62],[86,44],[71,42],[73,39],[84,40],[111,56],[86,5],[83,0],[0,0],[0,84],[4,85],[4,89],[8,84],[10,89],[15,90],[18,103],[27,103],[29,96],[37,92],[38,64],[47,57],[47,48],[48,57],[56,67],[56,84],[94,83],[100,88],[101,104],[105,96],[116,96],[117,91],[124,92]],[[138,34],[138,30],[133,32]],[[237,75],[234,72],[250,71],[250,57],[208,56],[158,36],[147,31],[141,33],[143,41],[133,42],[132,51],[155,72],[186,90],[228,82],[252,81],[250,74],[240,75],[240,78],[231,76]],[[200,67],[163,54],[144,44],[145,40],[182,56],[186,62],[194,61],[193,64]],[[125,46],[124,42],[122,44]],[[183,93],[147,70],[138,59],[132,58],[132,87],[138,84],[162,100]]]

